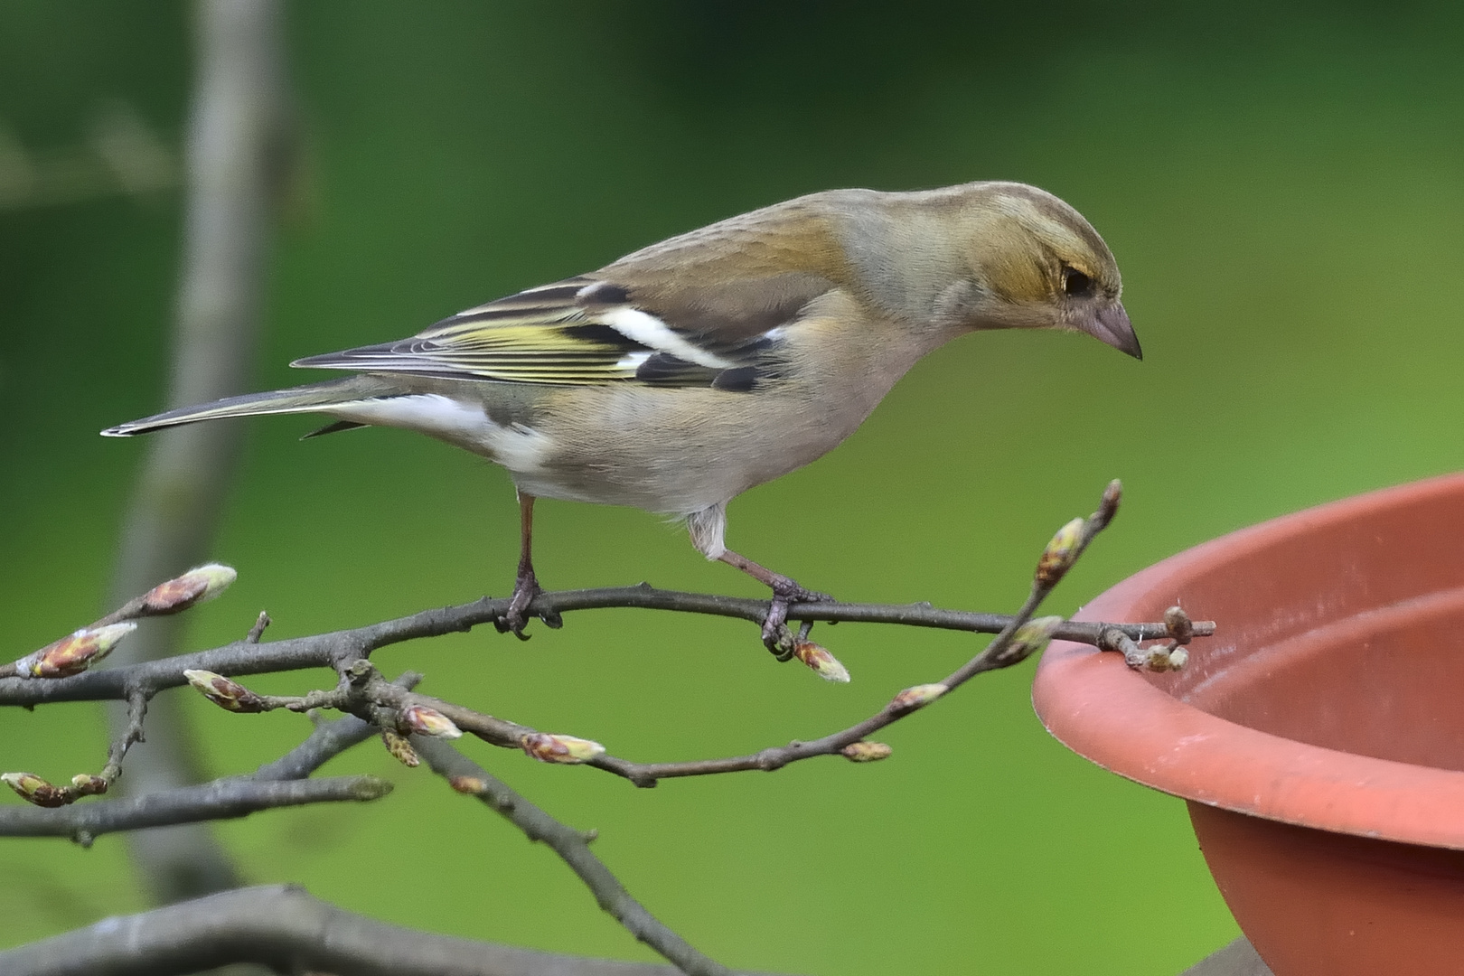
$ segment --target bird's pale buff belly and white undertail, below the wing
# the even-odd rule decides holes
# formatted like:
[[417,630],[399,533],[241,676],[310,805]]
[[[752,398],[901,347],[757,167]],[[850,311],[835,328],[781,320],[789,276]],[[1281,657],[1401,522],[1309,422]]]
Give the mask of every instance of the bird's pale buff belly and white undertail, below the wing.
[[728,502],[827,454],[889,388],[823,383],[810,395],[810,385],[744,394],[631,385],[550,392],[427,378],[410,383],[410,394],[328,413],[417,430],[483,455],[539,498],[672,515]]

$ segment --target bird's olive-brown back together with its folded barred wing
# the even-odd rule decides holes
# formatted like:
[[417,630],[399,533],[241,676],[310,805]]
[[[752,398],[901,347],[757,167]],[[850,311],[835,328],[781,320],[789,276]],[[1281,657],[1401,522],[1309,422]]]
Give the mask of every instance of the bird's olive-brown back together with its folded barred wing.
[[651,244],[600,271],[468,309],[398,342],[294,366],[518,383],[752,389],[785,329],[843,281],[818,195]]

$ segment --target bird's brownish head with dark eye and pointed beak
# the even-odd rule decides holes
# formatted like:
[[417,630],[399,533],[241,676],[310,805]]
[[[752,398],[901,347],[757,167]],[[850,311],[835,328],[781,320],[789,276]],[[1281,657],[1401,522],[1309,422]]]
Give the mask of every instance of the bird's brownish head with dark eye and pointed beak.
[[[1064,329],[1143,359],[1113,252],[1083,215],[1022,183],[974,183],[950,200],[968,275],[941,296],[976,329]],[[949,203],[947,203],[949,205]]]

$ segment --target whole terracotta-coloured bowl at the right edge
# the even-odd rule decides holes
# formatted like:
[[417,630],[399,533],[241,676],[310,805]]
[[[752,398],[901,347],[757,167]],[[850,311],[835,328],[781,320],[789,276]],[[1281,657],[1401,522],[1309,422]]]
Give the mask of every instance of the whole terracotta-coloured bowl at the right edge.
[[1048,732],[1189,800],[1277,976],[1464,973],[1464,476],[1233,533],[1078,619],[1174,603],[1220,626],[1177,675],[1053,644]]

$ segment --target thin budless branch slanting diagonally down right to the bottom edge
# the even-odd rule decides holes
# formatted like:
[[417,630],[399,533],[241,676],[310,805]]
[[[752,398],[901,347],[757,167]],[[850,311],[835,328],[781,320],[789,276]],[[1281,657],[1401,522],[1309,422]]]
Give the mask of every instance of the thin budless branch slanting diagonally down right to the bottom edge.
[[676,969],[688,976],[732,976],[732,970],[694,950],[632,898],[625,885],[590,850],[590,838],[586,834],[561,824],[442,739],[413,736],[411,745],[432,765],[433,773],[448,778],[452,789],[477,796],[524,831],[529,840],[548,844],[580,876],[602,909],[638,941],[671,960]]

